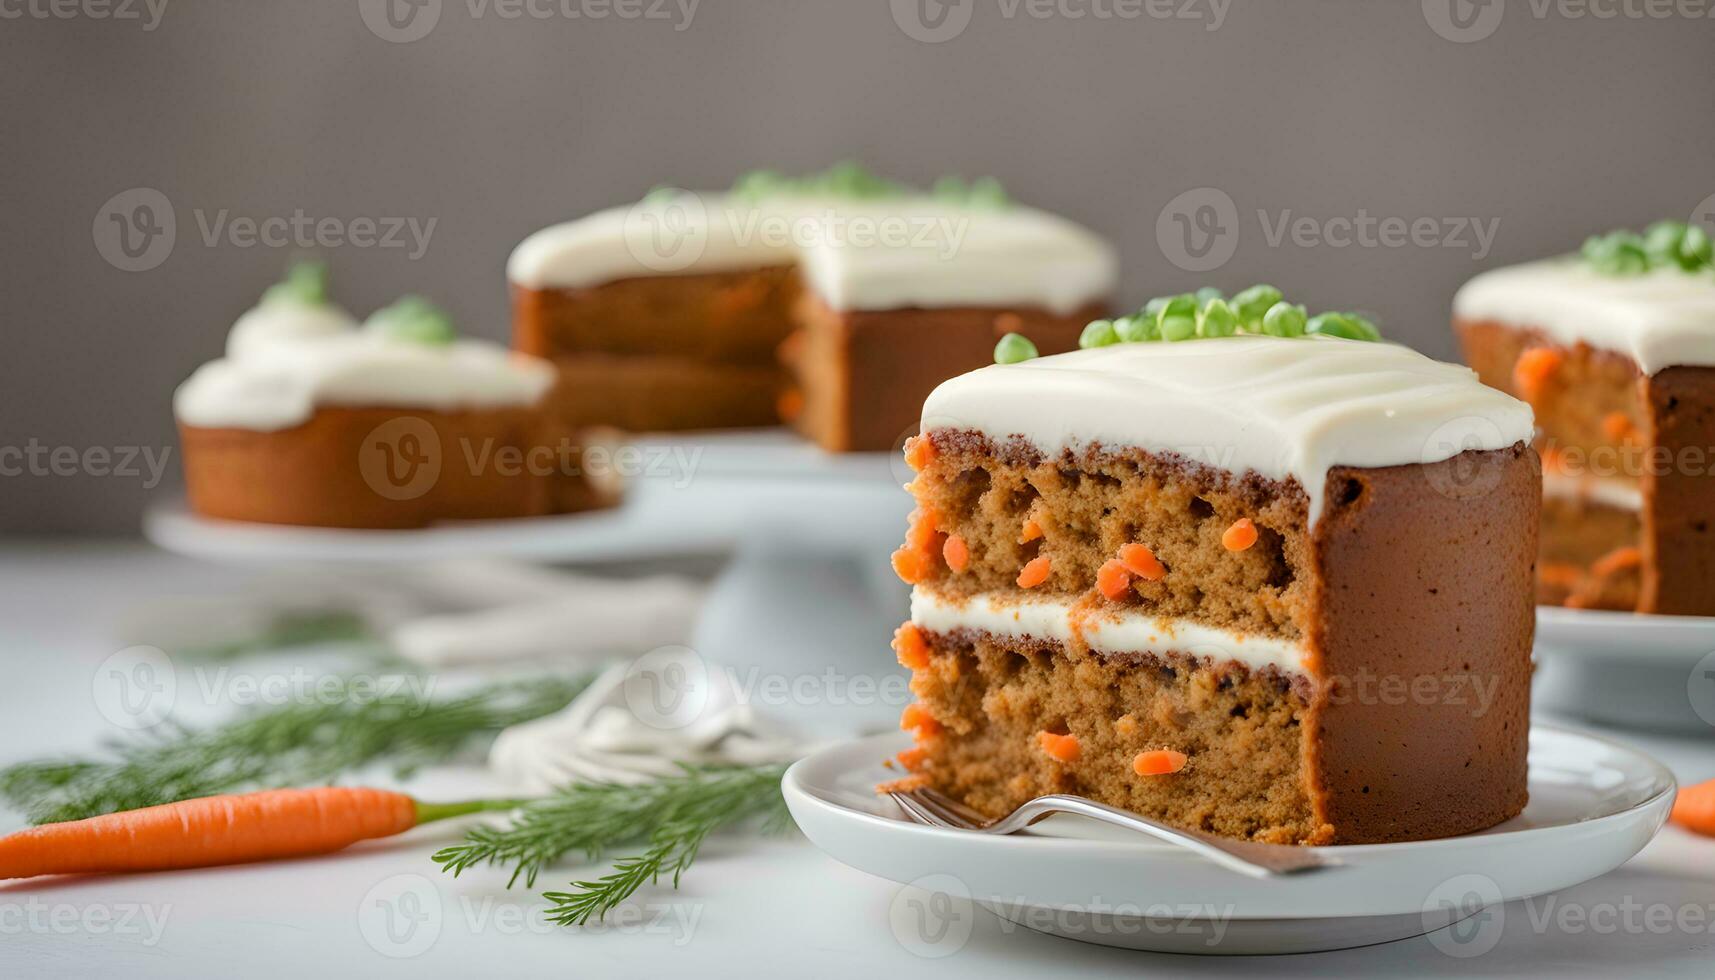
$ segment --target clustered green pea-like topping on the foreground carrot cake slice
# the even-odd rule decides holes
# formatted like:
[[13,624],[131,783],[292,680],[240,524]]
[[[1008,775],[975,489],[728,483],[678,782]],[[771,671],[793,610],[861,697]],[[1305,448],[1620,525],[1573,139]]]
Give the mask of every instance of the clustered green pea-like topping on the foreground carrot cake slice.
[[1381,340],[1375,323],[1355,312],[1309,316],[1302,305],[1286,302],[1281,290],[1254,285],[1233,299],[1218,290],[1154,297],[1134,314],[1111,321],[1098,319],[1084,330],[1079,347],[1144,343],[1151,340],[1194,340],[1237,335],[1266,336],[1339,336],[1345,340]]

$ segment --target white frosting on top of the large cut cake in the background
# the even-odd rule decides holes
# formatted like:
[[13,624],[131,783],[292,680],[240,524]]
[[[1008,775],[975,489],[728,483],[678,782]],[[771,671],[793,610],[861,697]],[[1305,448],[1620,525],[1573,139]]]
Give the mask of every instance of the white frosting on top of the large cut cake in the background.
[[797,264],[837,311],[1038,305],[1068,314],[1106,297],[1118,263],[1087,228],[1034,208],[933,197],[684,194],[544,228],[513,251],[528,288]]

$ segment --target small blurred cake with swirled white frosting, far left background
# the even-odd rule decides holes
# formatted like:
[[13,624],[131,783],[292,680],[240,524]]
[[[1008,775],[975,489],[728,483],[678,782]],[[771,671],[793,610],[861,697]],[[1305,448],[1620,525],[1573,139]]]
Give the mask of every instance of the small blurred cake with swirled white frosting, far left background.
[[554,369],[458,340],[406,297],[362,326],[297,266],[175,398],[190,506],[319,527],[422,527],[611,503],[544,412]]

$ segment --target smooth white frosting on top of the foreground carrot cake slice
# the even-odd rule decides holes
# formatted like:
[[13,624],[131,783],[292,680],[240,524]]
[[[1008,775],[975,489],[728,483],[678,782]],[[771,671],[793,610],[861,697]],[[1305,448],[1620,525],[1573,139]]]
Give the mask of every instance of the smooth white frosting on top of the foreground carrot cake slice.
[[923,431],[1092,443],[1297,479],[1322,511],[1327,470],[1441,462],[1530,441],[1530,405],[1466,367],[1394,343],[1228,336],[1120,343],[991,366],[942,383]]

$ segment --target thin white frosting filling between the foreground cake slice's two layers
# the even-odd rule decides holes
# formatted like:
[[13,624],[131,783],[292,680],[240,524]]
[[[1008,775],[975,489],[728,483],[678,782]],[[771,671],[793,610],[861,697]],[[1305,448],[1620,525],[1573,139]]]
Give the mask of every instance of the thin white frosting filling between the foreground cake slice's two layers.
[[1060,642],[1080,635],[1092,650],[1108,654],[1187,654],[1213,662],[1235,661],[1254,671],[1278,668],[1283,673],[1307,673],[1307,650],[1297,640],[1245,637],[1139,611],[1075,621],[1072,604],[1060,599],[1000,604],[991,596],[974,596],[955,602],[919,587],[911,592],[911,621],[935,632],[966,628]]

